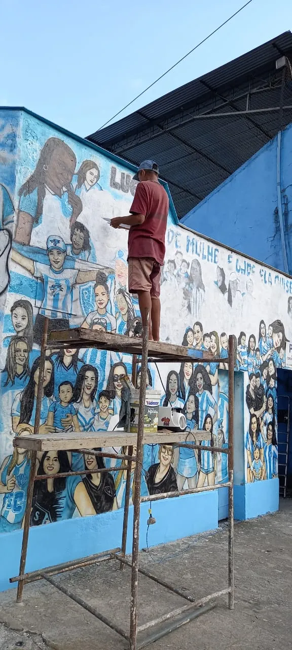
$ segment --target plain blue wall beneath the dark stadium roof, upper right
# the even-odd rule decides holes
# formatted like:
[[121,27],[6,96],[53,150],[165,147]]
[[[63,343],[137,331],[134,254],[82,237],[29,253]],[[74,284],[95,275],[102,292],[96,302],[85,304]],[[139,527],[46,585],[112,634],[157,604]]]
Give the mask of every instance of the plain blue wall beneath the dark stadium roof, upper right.
[[[184,218],[186,226],[284,270],[277,212],[277,138],[265,145]],[[282,132],[282,209],[292,271],[292,125]]]

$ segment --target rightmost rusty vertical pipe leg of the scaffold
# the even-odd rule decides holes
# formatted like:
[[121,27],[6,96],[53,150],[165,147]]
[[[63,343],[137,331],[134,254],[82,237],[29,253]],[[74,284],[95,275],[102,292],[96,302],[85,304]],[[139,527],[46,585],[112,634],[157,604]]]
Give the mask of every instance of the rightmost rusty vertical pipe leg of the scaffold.
[[228,607],[234,609],[234,365],[236,341],[229,337],[228,365]]

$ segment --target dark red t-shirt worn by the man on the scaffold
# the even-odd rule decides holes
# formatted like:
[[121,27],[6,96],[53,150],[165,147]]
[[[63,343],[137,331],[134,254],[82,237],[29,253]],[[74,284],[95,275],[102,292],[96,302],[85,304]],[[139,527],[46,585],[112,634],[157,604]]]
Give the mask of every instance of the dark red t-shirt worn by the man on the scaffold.
[[168,209],[167,192],[160,183],[138,183],[130,213],[145,214],[145,221],[130,227],[128,257],[152,257],[159,264],[164,263]]

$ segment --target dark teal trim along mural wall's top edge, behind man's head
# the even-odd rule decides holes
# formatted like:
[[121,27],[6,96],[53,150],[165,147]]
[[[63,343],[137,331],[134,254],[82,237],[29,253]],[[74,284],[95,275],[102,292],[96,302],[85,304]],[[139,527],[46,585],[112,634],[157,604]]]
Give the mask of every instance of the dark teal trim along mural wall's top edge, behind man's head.
[[[68,129],[64,129],[64,127],[55,124],[55,122],[51,122],[51,120],[47,120],[46,118],[43,118],[42,115],[38,115],[37,113],[34,113],[32,110],[26,109],[24,106],[0,106],[0,110],[15,110],[15,111],[18,110],[21,113],[26,113],[27,115],[30,115],[32,118],[35,118],[36,120],[40,120],[40,122],[47,124],[52,129],[56,129],[57,131],[60,131],[60,133],[64,133],[64,135],[67,135],[67,137],[74,138],[74,140],[77,140],[77,142],[80,142],[80,144],[82,144],[83,146],[90,147],[91,149],[98,151],[104,157],[109,158],[112,161],[117,162],[118,164],[123,164],[123,166],[128,167],[128,169],[130,169],[132,172],[136,173],[136,171],[138,170],[138,166],[132,164],[132,162],[128,162],[127,160],[117,156],[115,153],[112,153],[107,149],[103,149],[103,147],[99,146],[98,144],[94,144],[93,142],[90,142],[90,140],[86,140],[86,138],[82,138],[80,135],[77,135],[76,133],[72,133],[72,131],[68,131]],[[178,216],[176,214],[175,204],[173,203],[173,198],[171,196],[168,183],[166,183],[166,181],[164,181],[163,179],[160,179],[160,182],[162,183],[162,185],[164,186],[168,194],[169,207],[171,208],[171,216],[173,217],[175,224],[179,224]]]

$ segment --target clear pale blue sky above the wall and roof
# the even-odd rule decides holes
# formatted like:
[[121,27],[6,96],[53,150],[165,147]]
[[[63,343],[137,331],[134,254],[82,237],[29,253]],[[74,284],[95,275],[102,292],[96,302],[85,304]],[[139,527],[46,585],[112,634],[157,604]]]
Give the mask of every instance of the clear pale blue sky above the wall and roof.
[[[2,0],[0,105],[89,135],[243,4]],[[291,0],[253,0],[121,116],[291,28]]]

